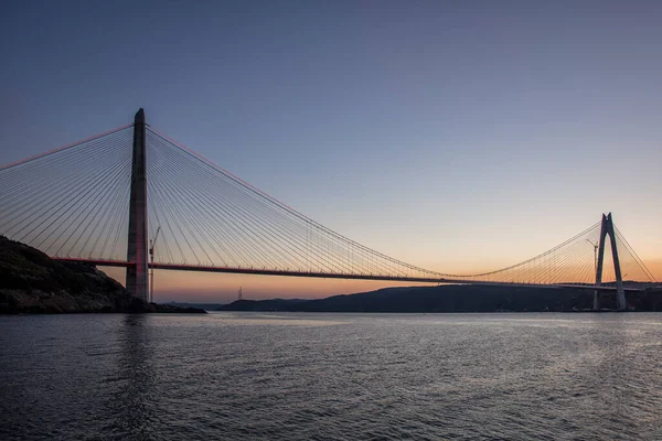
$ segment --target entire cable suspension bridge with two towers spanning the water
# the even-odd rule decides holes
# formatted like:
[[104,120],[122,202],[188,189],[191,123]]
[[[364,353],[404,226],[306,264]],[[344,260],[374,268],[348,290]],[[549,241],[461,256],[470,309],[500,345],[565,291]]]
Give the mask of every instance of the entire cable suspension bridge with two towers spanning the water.
[[0,166],[0,234],[54,259],[126,268],[127,289],[143,300],[150,269],[573,287],[595,291],[595,309],[599,291],[627,309],[627,291],[656,284],[611,214],[508,268],[452,275],[409,265],[233,175],[148,125],[142,109],[131,125]]

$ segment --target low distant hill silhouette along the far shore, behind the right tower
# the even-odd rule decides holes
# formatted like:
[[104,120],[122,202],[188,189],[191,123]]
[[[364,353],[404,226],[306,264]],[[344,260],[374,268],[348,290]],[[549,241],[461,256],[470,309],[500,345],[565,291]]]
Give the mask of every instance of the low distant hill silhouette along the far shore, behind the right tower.
[[[638,311],[662,311],[662,290],[627,293]],[[616,309],[613,294],[604,293],[601,304]],[[488,287],[448,284],[386,288],[317,300],[239,300],[217,311],[307,312],[570,312],[590,310],[592,291],[569,288]]]

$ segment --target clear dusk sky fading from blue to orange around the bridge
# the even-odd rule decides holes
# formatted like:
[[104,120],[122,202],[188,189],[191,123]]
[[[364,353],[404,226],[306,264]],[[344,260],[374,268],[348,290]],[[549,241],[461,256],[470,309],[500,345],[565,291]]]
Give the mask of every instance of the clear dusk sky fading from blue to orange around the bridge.
[[[143,107],[226,170],[424,268],[500,268],[613,212],[662,279],[660,23],[659,1],[3,1],[0,163]],[[191,301],[384,286],[157,279],[157,300]]]

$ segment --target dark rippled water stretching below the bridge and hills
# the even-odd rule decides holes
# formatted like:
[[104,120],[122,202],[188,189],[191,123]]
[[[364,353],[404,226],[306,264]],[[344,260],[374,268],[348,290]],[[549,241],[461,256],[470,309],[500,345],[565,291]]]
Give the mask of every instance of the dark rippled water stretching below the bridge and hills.
[[661,314],[0,316],[0,439],[661,440]]

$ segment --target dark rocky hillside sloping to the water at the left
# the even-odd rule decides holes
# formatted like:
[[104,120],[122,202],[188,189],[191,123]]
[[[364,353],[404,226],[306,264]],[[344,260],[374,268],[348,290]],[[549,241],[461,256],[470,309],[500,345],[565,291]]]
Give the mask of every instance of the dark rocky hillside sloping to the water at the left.
[[0,313],[57,312],[204,311],[148,304],[95,267],[54,261],[0,236]]

